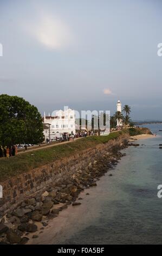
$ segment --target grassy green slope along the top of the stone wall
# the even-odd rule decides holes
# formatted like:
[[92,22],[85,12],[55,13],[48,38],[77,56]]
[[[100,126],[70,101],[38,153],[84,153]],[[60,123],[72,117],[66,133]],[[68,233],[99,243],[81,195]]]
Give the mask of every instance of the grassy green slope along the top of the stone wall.
[[128,133],[128,130],[110,133],[107,136],[90,136],[80,138],[74,142],[59,144],[54,147],[30,151],[27,153],[12,156],[9,159],[0,159],[0,181],[30,169],[43,166],[44,164],[68,157],[74,153],[80,153],[87,148],[95,147],[100,143],[106,143],[110,139],[118,138],[120,135]]

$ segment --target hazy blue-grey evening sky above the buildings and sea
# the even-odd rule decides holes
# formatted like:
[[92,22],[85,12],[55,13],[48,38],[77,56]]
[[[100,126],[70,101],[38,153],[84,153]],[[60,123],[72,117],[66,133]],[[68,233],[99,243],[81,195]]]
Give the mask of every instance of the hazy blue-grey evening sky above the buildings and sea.
[[0,0],[0,93],[162,120],[160,0]]

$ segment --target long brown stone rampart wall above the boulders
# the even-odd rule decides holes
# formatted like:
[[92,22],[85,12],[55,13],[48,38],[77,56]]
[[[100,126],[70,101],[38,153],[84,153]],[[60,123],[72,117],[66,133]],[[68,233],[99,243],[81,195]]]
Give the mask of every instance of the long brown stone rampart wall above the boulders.
[[2,182],[3,198],[0,198],[0,212],[14,209],[24,199],[32,197],[39,192],[46,191],[50,184],[57,186],[61,182],[72,177],[76,170],[84,169],[89,162],[98,159],[114,145],[121,145],[128,135],[122,135],[105,144],[99,144],[95,148],[88,148],[80,153],[55,160],[46,166],[35,168]]

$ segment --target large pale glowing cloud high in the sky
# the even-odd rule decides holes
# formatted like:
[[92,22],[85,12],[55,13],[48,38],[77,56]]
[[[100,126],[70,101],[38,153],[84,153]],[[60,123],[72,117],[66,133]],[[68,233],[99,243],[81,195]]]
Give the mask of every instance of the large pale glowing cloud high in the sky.
[[41,15],[36,19],[35,25],[28,23],[26,28],[30,35],[49,50],[61,50],[73,41],[73,34],[68,25],[50,15]]

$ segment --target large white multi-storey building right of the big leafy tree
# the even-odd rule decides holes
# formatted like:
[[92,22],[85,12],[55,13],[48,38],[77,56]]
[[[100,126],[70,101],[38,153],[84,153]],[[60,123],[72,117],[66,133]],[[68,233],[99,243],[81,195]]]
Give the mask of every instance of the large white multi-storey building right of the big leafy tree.
[[[65,109],[56,111],[55,116],[46,116],[44,112],[43,124],[49,125],[49,139],[58,137],[58,134],[64,132],[75,135],[75,111],[73,109]],[[47,130],[45,133],[48,133]]]

